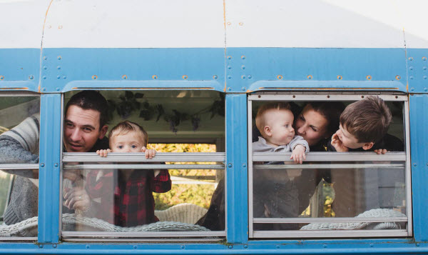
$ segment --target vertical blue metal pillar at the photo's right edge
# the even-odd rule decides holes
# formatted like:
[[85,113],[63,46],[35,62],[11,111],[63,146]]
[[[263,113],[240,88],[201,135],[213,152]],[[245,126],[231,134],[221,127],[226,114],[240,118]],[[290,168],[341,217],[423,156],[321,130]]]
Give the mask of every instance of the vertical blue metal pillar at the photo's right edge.
[[428,241],[428,95],[410,95],[409,109],[414,239]]

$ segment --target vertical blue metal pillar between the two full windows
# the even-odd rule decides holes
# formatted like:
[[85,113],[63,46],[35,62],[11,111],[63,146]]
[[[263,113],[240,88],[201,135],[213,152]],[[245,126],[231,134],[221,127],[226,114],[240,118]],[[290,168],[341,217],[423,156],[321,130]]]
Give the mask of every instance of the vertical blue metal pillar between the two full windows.
[[226,95],[226,224],[229,243],[248,241],[247,95]]

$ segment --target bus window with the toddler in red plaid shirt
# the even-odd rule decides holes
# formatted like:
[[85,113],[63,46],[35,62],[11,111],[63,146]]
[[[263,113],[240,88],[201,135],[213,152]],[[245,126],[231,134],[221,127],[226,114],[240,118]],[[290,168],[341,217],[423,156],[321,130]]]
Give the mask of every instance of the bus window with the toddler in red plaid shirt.
[[[64,108],[68,109],[64,143],[70,150],[63,154],[63,239],[225,236],[224,227],[211,231],[201,224],[225,174],[223,95],[215,91],[101,94],[108,105],[108,139],[97,141],[95,149],[78,151],[83,140],[90,140],[80,138],[78,129],[87,138],[92,127],[87,125],[84,133],[85,123],[75,119],[75,109]],[[76,95],[65,94],[64,102]],[[96,133],[103,140],[103,133]],[[104,157],[86,153],[99,149],[111,151],[103,151]],[[156,150],[153,159],[146,158],[146,150]]]

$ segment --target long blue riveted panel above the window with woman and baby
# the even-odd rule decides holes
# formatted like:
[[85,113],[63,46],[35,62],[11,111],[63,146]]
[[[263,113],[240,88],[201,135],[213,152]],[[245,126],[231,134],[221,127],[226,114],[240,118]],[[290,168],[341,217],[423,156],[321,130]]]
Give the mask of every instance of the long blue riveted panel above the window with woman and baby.
[[256,81],[314,81],[271,86],[322,89],[347,89],[349,81],[367,81],[360,85],[407,91],[404,49],[228,48],[226,55],[227,91],[258,90]]

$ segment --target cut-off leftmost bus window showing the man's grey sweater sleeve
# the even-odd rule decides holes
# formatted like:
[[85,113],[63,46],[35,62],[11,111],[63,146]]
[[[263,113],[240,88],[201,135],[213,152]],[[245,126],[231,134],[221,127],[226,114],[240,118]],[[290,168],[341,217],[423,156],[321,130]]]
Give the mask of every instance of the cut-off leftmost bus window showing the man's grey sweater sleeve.
[[0,94],[0,221],[6,239],[37,236],[39,113],[36,94]]

